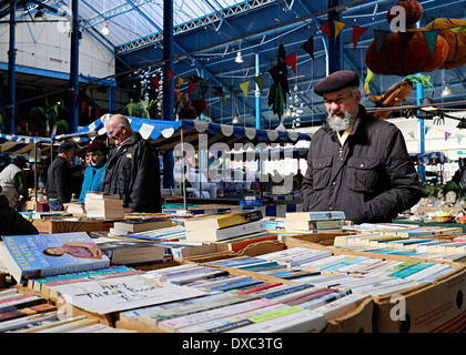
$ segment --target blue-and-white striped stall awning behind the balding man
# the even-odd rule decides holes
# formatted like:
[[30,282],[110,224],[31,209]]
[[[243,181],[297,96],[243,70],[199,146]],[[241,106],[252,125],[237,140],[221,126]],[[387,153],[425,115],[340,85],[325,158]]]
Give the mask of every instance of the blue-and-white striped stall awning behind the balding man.
[[[107,134],[105,122],[109,118],[110,115],[105,114],[75,133],[55,135],[53,139],[57,141],[69,141],[83,146],[90,139]],[[276,143],[283,145],[311,140],[311,135],[307,133],[256,130],[199,120],[162,121],[139,118],[128,119],[134,132],[141,133],[144,139],[155,144],[159,151],[170,150],[179,144],[181,142],[182,130],[184,133],[184,143],[191,143],[193,146],[199,145],[200,134],[206,134],[210,146],[213,143],[225,143],[232,149],[235,143],[257,144],[265,142],[266,144]]]

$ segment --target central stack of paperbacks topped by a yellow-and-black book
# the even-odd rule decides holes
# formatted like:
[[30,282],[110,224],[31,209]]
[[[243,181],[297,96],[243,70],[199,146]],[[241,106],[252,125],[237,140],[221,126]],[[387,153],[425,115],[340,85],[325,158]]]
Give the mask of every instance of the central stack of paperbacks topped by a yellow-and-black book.
[[186,240],[216,242],[265,231],[262,212],[229,212],[185,220]]

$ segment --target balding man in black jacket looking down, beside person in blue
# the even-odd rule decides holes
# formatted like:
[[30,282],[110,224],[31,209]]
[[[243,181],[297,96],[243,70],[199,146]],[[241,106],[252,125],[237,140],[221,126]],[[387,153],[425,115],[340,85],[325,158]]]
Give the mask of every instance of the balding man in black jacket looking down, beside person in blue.
[[110,153],[101,190],[119,194],[131,212],[162,212],[155,148],[133,132],[122,114],[112,115],[105,128],[116,146]]

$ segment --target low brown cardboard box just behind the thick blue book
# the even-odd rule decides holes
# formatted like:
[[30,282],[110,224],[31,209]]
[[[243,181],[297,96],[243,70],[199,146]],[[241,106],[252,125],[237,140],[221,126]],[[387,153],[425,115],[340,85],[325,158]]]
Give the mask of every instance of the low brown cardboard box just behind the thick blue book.
[[70,232],[98,232],[109,231],[113,226],[111,221],[99,220],[65,220],[65,219],[48,219],[48,220],[32,220],[32,224],[37,227],[39,233],[70,233]]

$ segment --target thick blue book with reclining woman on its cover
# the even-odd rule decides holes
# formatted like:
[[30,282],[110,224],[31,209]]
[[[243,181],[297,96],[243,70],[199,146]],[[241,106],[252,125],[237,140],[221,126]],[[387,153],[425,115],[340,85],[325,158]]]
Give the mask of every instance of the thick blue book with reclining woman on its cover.
[[0,257],[18,283],[110,265],[85,232],[3,236]]

